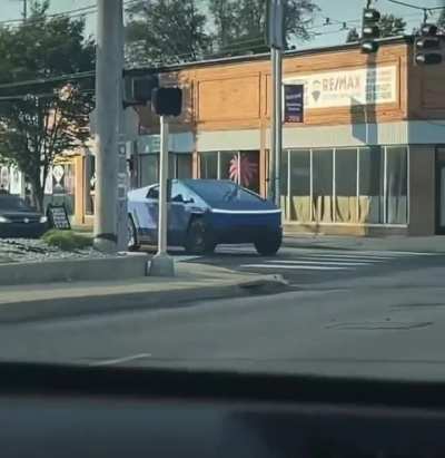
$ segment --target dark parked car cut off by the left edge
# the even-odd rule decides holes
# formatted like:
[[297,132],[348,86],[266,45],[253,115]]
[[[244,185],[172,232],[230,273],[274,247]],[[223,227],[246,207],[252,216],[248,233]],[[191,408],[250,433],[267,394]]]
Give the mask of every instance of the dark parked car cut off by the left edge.
[[18,196],[0,194],[0,237],[39,237],[47,228],[47,216]]

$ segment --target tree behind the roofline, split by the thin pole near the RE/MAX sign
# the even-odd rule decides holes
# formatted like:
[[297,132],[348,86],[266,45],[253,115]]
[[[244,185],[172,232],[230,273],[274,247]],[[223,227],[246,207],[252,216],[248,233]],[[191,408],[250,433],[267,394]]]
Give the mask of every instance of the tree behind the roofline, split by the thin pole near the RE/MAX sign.
[[[215,23],[214,46],[222,53],[248,53],[267,50],[265,43],[265,0],[209,0]],[[318,7],[312,0],[288,0],[285,3],[286,48],[296,39],[308,40],[308,26]]]

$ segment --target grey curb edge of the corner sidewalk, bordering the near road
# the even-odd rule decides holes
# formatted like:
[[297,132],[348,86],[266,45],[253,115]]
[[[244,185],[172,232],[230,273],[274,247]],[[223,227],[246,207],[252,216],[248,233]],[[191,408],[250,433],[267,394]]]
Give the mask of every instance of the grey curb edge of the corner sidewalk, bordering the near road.
[[144,291],[86,296],[60,296],[0,304],[0,323],[17,323],[46,319],[76,318],[88,314],[130,312],[137,310],[166,310],[188,306],[191,301],[212,301],[259,294],[285,292],[287,282],[280,275],[224,284],[200,285],[167,291]]

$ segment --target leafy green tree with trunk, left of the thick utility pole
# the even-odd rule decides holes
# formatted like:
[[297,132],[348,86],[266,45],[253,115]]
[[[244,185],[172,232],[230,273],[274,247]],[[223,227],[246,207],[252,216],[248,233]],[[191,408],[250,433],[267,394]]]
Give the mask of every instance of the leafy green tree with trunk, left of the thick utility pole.
[[93,103],[92,78],[65,77],[93,70],[85,22],[48,9],[36,1],[26,22],[0,28],[0,157],[24,174],[40,211],[55,159],[90,136]]

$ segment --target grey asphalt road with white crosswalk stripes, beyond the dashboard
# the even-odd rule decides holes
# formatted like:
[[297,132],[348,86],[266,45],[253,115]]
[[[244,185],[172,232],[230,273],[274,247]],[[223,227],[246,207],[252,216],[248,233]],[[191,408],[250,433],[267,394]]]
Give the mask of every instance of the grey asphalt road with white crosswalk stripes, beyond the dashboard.
[[445,378],[445,256],[285,249],[261,259],[249,247],[222,247],[180,260],[279,271],[293,288],[181,309],[3,324],[0,358]]

